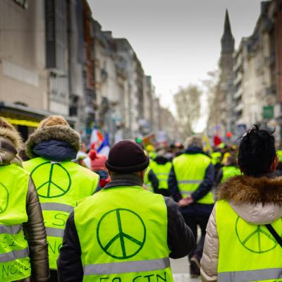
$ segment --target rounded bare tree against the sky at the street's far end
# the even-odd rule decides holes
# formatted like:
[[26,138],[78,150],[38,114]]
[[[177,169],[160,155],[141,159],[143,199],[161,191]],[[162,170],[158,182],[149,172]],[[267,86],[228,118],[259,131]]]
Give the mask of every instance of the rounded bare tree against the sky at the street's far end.
[[183,139],[192,135],[192,128],[200,118],[201,95],[200,87],[192,84],[188,87],[180,87],[178,92],[174,94],[173,99],[176,104],[178,124]]

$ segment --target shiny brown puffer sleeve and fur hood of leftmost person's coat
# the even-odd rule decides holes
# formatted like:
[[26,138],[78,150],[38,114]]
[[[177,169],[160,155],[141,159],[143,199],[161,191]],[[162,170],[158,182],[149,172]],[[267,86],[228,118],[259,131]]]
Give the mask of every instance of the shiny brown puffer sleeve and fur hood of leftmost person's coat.
[[[17,164],[22,166],[17,150],[20,149],[19,136],[15,130],[0,128],[0,166]],[[7,176],[8,177],[8,176]],[[30,250],[32,281],[49,281],[49,262],[46,231],[35,185],[30,178],[26,198],[27,223],[23,223],[23,231]],[[25,278],[21,282],[29,282]]]

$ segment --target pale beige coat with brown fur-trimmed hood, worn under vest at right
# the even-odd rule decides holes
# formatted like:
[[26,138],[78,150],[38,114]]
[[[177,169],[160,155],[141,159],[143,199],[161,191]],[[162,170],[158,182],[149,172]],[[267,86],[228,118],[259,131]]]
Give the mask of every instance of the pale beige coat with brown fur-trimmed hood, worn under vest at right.
[[[247,223],[273,223],[282,216],[282,178],[274,174],[252,178],[235,176],[226,180],[218,192],[219,200],[227,200],[234,212]],[[201,260],[202,281],[217,281],[219,236],[216,230],[216,207],[207,224],[204,253]],[[228,231],[226,231],[228,232]]]

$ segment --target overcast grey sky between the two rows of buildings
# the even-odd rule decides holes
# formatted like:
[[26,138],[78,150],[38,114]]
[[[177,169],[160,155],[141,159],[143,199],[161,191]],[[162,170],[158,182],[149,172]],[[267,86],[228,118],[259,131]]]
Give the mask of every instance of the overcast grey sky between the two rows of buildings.
[[164,106],[180,85],[200,82],[216,68],[226,8],[236,47],[252,34],[260,10],[259,0],[88,2],[103,30],[128,39]]

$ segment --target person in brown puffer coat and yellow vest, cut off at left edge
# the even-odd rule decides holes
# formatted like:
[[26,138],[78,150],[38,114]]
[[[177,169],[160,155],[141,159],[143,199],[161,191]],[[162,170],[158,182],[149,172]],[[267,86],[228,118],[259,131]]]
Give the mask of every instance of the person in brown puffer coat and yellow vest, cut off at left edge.
[[0,117],[0,281],[49,281],[46,231],[16,128]]

